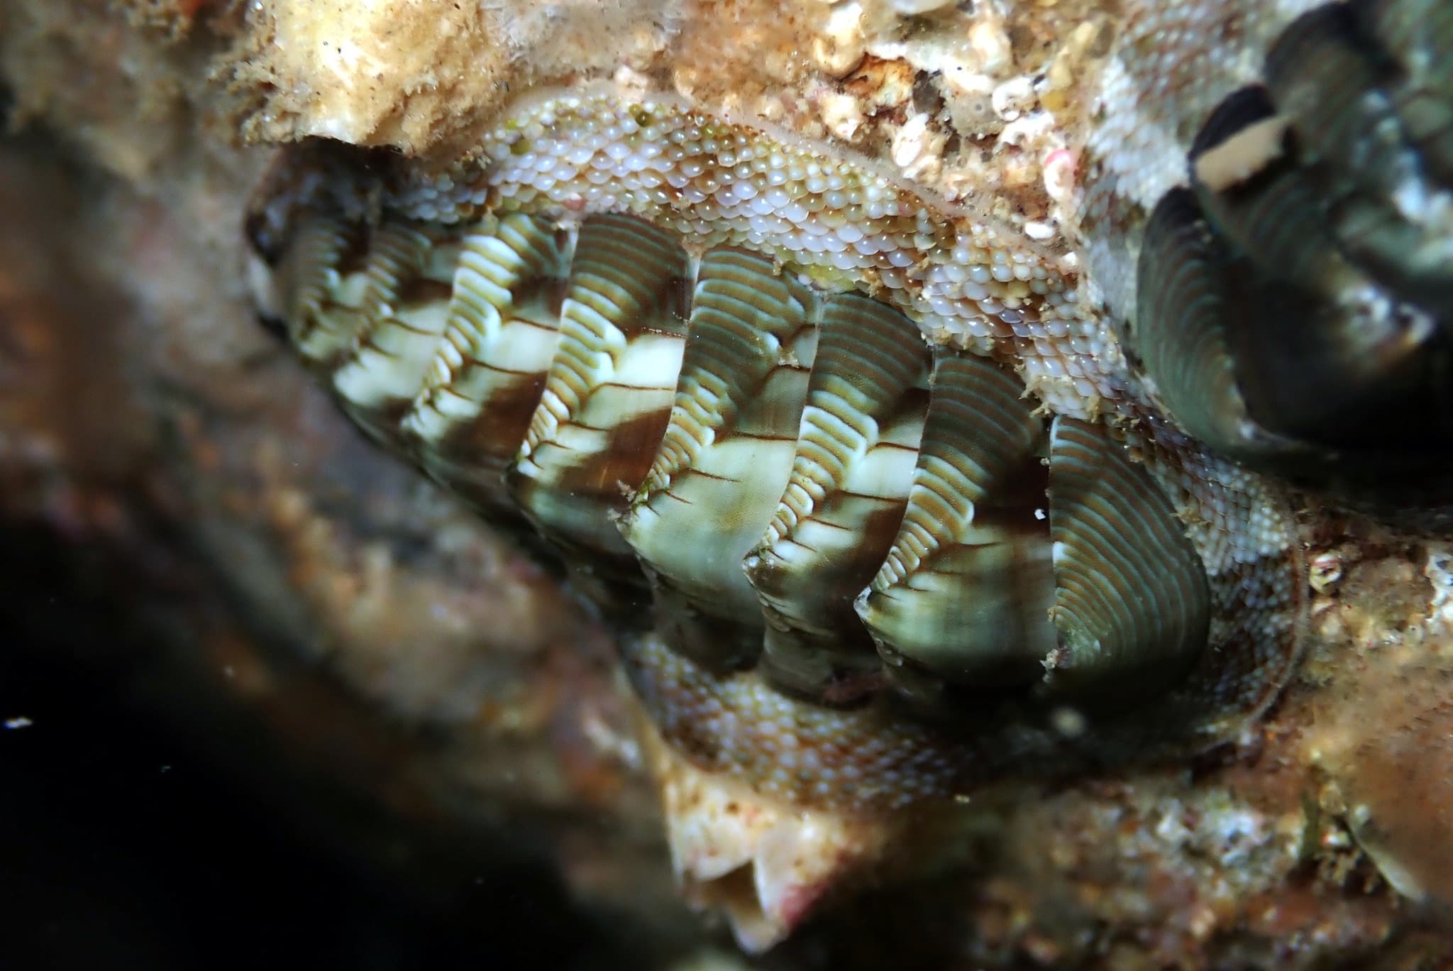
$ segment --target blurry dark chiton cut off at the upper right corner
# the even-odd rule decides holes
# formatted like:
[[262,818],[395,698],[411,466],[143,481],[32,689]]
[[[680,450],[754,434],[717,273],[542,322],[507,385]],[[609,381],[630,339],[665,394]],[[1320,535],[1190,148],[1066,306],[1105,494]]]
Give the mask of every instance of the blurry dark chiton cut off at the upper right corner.
[[[1235,48],[1180,49],[1228,23]],[[1453,12],[1145,4],[1125,44],[1162,54],[1110,81],[1141,93],[1090,140],[1084,256],[1149,397],[1219,454],[1446,529]]]

